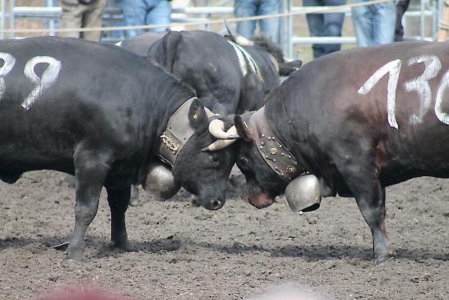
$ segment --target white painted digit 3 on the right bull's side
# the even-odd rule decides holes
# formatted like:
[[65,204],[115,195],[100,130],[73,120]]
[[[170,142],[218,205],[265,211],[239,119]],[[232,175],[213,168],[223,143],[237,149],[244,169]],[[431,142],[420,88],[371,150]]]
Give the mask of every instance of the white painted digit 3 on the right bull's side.
[[441,69],[441,62],[435,55],[413,57],[408,61],[409,66],[422,63],[426,65],[423,74],[408,82],[405,82],[404,84],[406,92],[410,93],[411,91],[416,91],[421,100],[421,108],[419,109],[419,113],[410,117],[410,123],[412,124],[419,124],[423,122],[423,116],[426,111],[428,111],[430,102],[432,101],[432,91],[430,90],[428,80],[436,77]]

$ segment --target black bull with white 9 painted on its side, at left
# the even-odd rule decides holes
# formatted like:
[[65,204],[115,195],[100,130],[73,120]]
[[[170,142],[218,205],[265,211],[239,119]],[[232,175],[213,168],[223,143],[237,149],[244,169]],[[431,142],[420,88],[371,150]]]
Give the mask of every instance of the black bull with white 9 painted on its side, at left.
[[[130,186],[144,182],[148,165],[158,160],[154,150],[167,121],[195,93],[144,57],[82,39],[1,41],[0,60],[1,180],[13,183],[38,169],[75,174],[70,259],[84,258],[86,229],[106,187],[111,240],[129,250]],[[187,111],[194,133],[173,174],[204,207],[218,209],[225,203],[233,153],[201,151],[215,140],[210,120],[199,100]]]

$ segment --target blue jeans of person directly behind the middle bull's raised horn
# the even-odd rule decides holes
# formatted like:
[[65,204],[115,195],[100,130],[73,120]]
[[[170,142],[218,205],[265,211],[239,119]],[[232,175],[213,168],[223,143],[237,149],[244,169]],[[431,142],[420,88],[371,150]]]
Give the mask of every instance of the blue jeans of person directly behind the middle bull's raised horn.
[[[279,0],[236,0],[234,3],[234,13],[236,17],[254,17],[261,15],[274,15],[280,12]],[[280,44],[279,28],[280,19],[270,18],[258,20],[260,32],[269,37],[271,41]],[[244,37],[254,36],[256,20],[237,22],[237,33]]]

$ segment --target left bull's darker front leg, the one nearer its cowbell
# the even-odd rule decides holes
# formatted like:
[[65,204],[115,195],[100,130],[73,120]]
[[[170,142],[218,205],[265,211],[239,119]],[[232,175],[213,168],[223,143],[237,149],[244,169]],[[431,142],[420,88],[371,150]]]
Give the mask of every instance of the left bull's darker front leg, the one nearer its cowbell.
[[128,209],[128,203],[131,195],[131,185],[126,184],[108,184],[108,203],[111,207],[111,241],[114,247],[125,251],[132,251],[126,234],[125,212]]

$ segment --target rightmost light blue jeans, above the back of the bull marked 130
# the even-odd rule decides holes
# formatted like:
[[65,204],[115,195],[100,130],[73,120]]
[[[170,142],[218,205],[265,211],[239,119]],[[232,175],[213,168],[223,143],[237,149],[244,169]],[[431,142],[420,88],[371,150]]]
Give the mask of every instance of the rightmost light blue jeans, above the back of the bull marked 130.
[[[364,2],[356,0],[355,2]],[[351,8],[357,46],[366,47],[394,41],[396,6],[393,2]]]

